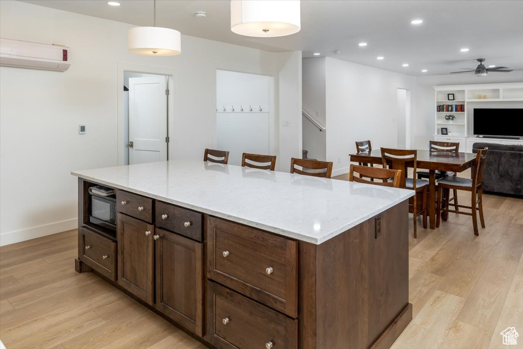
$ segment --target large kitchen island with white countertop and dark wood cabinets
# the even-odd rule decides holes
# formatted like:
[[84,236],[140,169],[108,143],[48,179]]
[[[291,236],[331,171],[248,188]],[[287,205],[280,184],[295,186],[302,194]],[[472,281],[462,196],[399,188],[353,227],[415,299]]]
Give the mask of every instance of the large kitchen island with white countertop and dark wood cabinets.
[[[201,161],[72,174],[76,271],[214,347],[390,347],[412,319],[411,190]],[[116,230],[89,219],[97,185]]]

